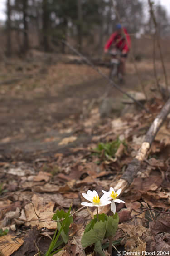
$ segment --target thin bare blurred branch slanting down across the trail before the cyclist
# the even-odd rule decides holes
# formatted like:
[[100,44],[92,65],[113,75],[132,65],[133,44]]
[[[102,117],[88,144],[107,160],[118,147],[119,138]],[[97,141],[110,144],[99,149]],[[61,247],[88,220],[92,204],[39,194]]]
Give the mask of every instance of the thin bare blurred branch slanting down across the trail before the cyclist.
[[151,113],[148,109],[146,109],[139,101],[137,101],[135,98],[133,98],[130,94],[126,93],[123,89],[120,88],[120,86],[118,86],[112,79],[109,79],[107,77],[107,75],[103,74],[102,71],[100,69],[98,69],[97,67],[95,67],[91,61],[89,59],[87,59],[85,56],[83,56],[82,54],[80,54],[78,52],[78,50],[76,50],[75,48],[73,48],[73,46],[71,46],[70,44],[68,44],[66,41],[62,40],[62,42],[68,46],[68,48],[70,48],[73,52],[75,52],[76,54],[78,54],[78,56],[80,56],[88,65],[90,65],[92,67],[92,69],[96,70],[103,78],[107,79],[107,81],[109,82],[109,84],[112,84],[118,91],[120,91],[122,94],[125,94],[128,98],[131,98],[136,104],[138,104],[141,108],[145,109],[146,112]]

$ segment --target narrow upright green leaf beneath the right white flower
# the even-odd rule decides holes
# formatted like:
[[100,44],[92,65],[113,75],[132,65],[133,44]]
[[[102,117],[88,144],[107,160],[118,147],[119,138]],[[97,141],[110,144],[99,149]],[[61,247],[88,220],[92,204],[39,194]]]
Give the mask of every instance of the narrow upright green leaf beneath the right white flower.
[[115,213],[112,216],[108,216],[108,225],[105,237],[108,238],[110,236],[114,236],[116,234],[118,224],[119,224],[119,216]]

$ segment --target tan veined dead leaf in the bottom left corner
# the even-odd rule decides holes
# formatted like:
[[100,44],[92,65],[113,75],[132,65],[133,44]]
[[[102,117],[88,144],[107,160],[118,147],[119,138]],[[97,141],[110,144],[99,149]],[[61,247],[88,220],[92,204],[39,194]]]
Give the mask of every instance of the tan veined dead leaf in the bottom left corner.
[[24,240],[10,234],[0,236],[0,252],[2,255],[9,256],[19,249]]

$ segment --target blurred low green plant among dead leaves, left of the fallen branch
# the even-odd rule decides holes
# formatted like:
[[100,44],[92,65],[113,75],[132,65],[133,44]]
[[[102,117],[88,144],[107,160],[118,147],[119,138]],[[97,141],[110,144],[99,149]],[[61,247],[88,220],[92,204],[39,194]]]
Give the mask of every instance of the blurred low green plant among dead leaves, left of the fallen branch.
[[117,138],[113,142],[107,142],[107,143],[100,142],[97,148],[94,149],[96,151],[95,154],[97,154],[98,157],[102,157],[102,155],[104,154],[106,158],[111,159],[112,157],[114,157],[121,143],[123,143],[123,145],[126,146],[126,143],[122,142],[119,138]]

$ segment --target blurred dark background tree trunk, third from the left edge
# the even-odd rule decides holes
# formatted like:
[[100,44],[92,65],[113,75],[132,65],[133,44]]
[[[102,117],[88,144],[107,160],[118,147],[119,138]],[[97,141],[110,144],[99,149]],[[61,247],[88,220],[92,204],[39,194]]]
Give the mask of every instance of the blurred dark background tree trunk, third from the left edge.
[[43,48],[45,52],[49,51],[49,39],[48,39],[48,29],[49,29],[49,8],[48,0],[43,0]]

